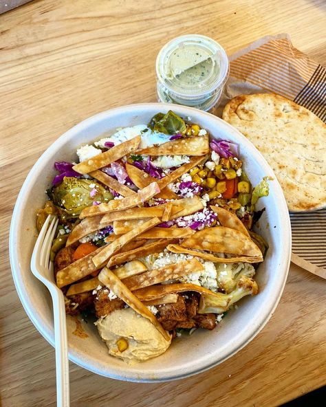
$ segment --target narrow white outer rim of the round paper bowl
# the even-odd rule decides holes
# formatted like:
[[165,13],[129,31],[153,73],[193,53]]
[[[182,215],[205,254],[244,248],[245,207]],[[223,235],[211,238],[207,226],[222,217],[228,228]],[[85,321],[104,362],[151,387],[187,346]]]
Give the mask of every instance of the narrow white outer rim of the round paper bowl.
[[[25,295],[25,287],[21,284],[21,281],[19,281],[19,275],[21,274],[21,270],[19,267],[19,259],[18,259],[18,253],[17,249],[15,248],[14,245],[14,239],[17,233],[19,233],[19,219],[22,216],[21,215],[21,209],[23,208],[24,205],[24,200],[25,200],[25,194],[28,192],[29,184],[32,181],[32,178],[34,174],[37,171],[38,164],[40,162],[43,162],[43,160],[47,160],[52,153],[54,153],[58,147],[63,144],[67,138],[73,137],[74,135],[78,134],[80,130],[85,128],[86,126],[89,126],[92,123],[98,122],[101,118],[105,118],[111,114],[118,113],[118,111],[124,111],[124,113],[130,111],[132,112],[136,108],[142,108],[144,110],[148,109],[151,110],[153,107],[157,107],[157,111],[160,110],[160,108],[164,109],[175,109],[178,111],[179,114],[184,115],[184,117],[187,117],[191,115],[191,112],[194,114],[198,114],[198,109],[192,108],[192,107],[185,107],[181,106],[179,104],[167,104],[167,103],[157,103],[157,102],[149,102],[149,103],[138,103],[138,104],[128,104],[125,106],[121,107],[116,107],[113,109],[109,109],[107,111],[102,111],[100,113],[97,113],[95,115],[92,115],[91,117],[83,120],[82,122],[79,122],[75,126],[73,126],[71,129],[63,133],[58,139],[56,139],[46,150],[45,152],[39,157],[39,159],[36,161],[30,172],[28,173],[28,176],[26,177],[25,181],[23,182],[23,186],[21,187],[21,190],[19,192],[19,195],[17,197],[16,204],[14,206],[14,211],[12,214],[12,221],[10,225],[10,238],[9,238],[9,252],[10,252],[10,265],[12,268],[12,276],[14,279],[14,285],[17,289],[17,294],[19,295],[19,299],[21,300],[21,303],[23,305],[23,308],[25,309],[26,314],[28,314],[28,317],[36,327],[36,329],[41,333],[41,335],[49,342],[52,347],[54,347],[54,335],[52,332],[52,335],[49,335],[47,331],[45,331],[44,327],[42,326],[40,320],[37,317],[37,310],[32,309],[30,301],[28,297]],[[283,293],[283,289],[285,287],[285,283],[287,280],[287,274],[289,271],[290,267],[290,254],[291,254],[291,225],[290,225],[290,216],[288,216],[288,209],[287,209],[287,204],[285,201],[285,197],[283,195],[283,191],[281,189],[281,186],[279,185],[279,182],[277,181],[272,168],[270,168],[269,164],[265,161],[265,158],[261,153],[257,150],[257,148],[254,147],[254,145],[244,136],[242,135],[237,129],[235,129],[233,126],[222,120],[221,118],[218,118],[215,115],[211,115],[210,113],[207,113],[205,111],[200,111],[201,115],[208,115],[210,117],[210,120],[216,120],[219,123],[219,126],[224,127],[226,130],[232,133],[236,133],[237,137],[239,140],[243,141],[244,144],[247,144],[249,148],[254,151],[254,154],[256,155],[257,158],[260,160],[260,166],[261,169],[265,174],[268,174],[269,176],[274,178],[274,188],[276,188],[279,196],[279,210],[281,213],[285,214],[287,213],[287,217],[285,216],[283,221],[285,221],[284,227],[281,230],[281,234],[283,237],[283,252],[287,254],[287,259],[283,263],[283,279],[279,281],[278,286],[274,290],[274,298],[273,300],[270,301],[270,307],[266,307],[263,312],[260,315],[259,321],[256,321],[255,324],[255,329],[252,330],[248,336],[244,337],[241,343],[235,348],[232,349],[229,353],[226,353],[222,358],[219,358],[219,360],[215,360],[211,364],[206,364],[205,366],[200,367],[199,369],[194,369],[191,370],[187,373],[179,373],[177,375],[169,377],[155,377],[155,378],[140,378],[139,376],[136,375],[113,375],[110,373],[110,375],[107,375],[100,371],[99,369],[96,368],[94,364],[88,364],[87,362],[80,360],[78,358],[78,352],[74,350],[69,350],[69,360],[77,364],[78,366],[83,367],[84,369],[87,369],[93,373],[96,373],[98,375],[102,375],[105,377],[110,377],[112,379],[117,379],[117,380],[124,380],[124,381],[129,381],[129,382],[148,382],[148,383],[153,383],[153,382],[169,382],[172,380],[178,380],[178,379],[183,379],[185,377],[189,377],[192,375],[196,375],[198,373],[202,373],[208,369],[213,368],[217,364],[221,364],[221,362],[224,362],[228,358],[230,358],[232,355],[235,355],[238,351],[243,349],[243,347],[246,346],[257,334],[265,327],[267,322],[270,320],[272,315],[274,314],[274,311],[279,304],[279,300],[281,298],[281,295]],[[241,142],[240,141],[240,142]]]

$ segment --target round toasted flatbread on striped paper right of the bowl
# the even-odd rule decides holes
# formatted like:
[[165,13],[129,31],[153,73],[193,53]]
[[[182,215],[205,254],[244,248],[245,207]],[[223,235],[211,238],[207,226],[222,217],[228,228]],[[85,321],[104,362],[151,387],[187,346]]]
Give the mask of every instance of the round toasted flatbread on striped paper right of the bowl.
[[263,154],[292,211],[326,206],[326,125],[311,111],[276,94],[240,95],[223,119]]

